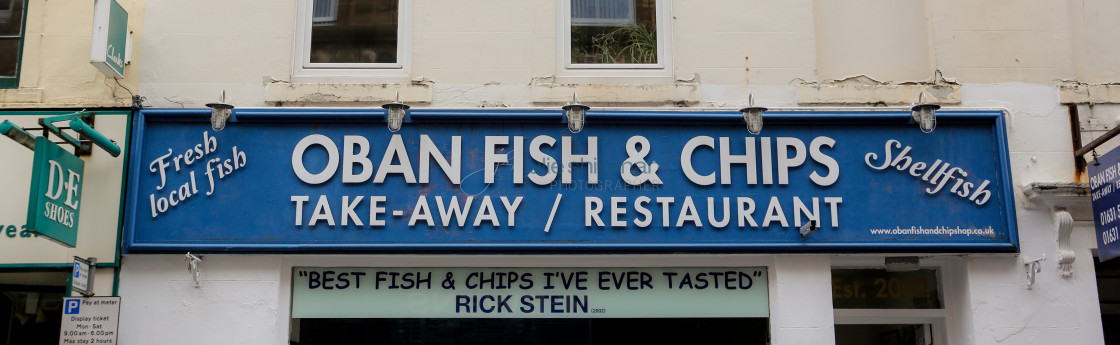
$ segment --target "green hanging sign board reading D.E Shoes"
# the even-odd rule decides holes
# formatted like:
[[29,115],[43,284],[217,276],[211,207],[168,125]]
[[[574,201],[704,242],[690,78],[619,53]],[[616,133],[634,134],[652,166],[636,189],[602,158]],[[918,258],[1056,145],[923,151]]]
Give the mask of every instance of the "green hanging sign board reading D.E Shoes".
[[74,248],[85,162],[46,137],[35,138],[27,229]]

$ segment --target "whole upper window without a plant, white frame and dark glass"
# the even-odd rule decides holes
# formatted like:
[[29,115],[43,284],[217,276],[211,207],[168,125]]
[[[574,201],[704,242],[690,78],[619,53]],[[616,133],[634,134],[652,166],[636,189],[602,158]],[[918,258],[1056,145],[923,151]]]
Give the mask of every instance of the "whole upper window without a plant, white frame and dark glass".
[[410,0],[302,0],[293,74],[407,76],[410,9]]

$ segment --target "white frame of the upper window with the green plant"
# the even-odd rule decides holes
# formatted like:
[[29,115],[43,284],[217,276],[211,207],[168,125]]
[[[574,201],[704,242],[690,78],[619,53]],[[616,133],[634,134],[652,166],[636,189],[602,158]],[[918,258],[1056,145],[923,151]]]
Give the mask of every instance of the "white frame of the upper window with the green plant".
[[572,64],[571,63],[571,0],[557,0],[557,56],[560,76],[666,76],[673,66],[672,2],[656,0],[657,63],[656,64]]

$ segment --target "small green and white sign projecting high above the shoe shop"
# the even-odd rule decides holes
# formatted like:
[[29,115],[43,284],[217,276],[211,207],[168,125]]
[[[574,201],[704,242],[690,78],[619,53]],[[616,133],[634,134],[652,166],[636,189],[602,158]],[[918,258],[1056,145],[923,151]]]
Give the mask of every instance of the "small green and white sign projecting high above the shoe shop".
[[116,0],[96,0],[93,6],[92,36],[90,63],[110,77],[123,77],[129,12]]

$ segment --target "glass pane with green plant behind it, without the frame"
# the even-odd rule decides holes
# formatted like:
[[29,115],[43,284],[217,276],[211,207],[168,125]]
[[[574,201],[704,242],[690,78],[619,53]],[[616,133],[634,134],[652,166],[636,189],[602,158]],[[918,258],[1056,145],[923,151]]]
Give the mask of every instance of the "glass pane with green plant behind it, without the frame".
[[655,0],[572,0],[572,64],[656,64]]

